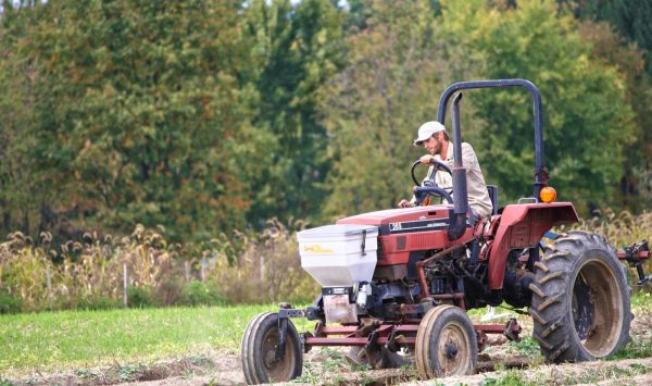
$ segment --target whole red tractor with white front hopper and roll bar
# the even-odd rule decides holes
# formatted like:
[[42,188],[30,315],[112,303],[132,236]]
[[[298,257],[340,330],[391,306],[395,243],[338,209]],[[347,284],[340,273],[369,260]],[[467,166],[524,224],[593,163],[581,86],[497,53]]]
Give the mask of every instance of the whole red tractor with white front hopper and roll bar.
[[[460,100],[463,89],[527,88],[534,101],[535,182],[532,197],[468,222],[466,173],[462,166]],[[303,353],[316,346],[348,346],[349,356],[373,368],[402,363],[409,352],[419,377],[472,374],[487,334],[519,340],[515,319],[474,325],[465,310],[506,303],[528,308],[534,338],[548,362],[609,357],[629,340],[632,315],[626,270],[636,266],[639,285],[647,241],[617,252],[589,232],[554,235],[550,229],[578,221],[572,202],[555,202],[543,164],[541,96],[523,79],[463,82],[439,101],[437,121],[452,107],[454,197],[438,186],[414,189],[415,208],[390,209],[339,220],[298,234],[301,262],[323,287],[312,307],[253,317],[242,337],[242,368],[249,384],[286,382],[301,375]],[[415,166],[412,167],[412,177]],[[442,172],[443,173],[443,172]],[[449,203],[424,206],[429,196]],[[546,244],[542,238],[552,238]],[[316,321],[299,334],[291,317]]]

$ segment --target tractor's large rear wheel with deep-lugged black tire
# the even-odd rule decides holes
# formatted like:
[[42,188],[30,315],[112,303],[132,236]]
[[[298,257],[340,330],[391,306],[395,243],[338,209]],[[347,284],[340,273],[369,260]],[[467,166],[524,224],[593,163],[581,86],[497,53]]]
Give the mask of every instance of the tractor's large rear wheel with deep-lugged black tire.
[[530,284],[534,338],[548,362],[609,357],[629,340],[625,267],[601,235],[570,232],[547,248]]

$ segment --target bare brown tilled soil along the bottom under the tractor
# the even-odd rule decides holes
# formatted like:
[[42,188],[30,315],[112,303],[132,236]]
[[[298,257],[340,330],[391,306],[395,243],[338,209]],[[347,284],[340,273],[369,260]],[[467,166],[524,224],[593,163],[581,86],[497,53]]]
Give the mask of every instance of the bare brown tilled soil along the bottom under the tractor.
[[[524,337],[530,325],[524,320]],[[652,311],[639,311],[631,325],[634,345],[652,341]],[[526,345],[502,345],[502,336],[490,339],[479,357],[478,373],[473,376],[437,379],[438,384],[599,384],[652,385],[652,358],[635,358],[562,365],[546,365],[530,340]],[[413,368],[400,370],[360,370],[344,359],[344,349],[313,349],[304,358],[300,383],[304,384],[431,384],[418,382]],[[632,357],[640,357],[632,351]],[[2,379],[0,379],[2,381]],[[4,378],[17,385],[240,385],[244,383],[237,352],[180,358],[151,364],[74,370],[62,373],[32,374]],[[0,382],[1,384],[1,382]]]

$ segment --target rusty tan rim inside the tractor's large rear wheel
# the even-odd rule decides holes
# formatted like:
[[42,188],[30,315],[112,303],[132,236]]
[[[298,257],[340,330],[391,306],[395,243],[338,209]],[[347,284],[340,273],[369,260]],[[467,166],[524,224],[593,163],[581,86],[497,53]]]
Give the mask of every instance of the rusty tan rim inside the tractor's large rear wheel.
[[595,358],[611,353],[623,324],[622,294],[613,271],[600,260],[579,270],[572,297],[573,323],[582,346]]

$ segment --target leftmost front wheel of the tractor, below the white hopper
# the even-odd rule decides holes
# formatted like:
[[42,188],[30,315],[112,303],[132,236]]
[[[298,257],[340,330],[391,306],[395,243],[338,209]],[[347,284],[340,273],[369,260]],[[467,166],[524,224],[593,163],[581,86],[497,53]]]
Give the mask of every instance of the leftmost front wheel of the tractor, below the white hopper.
[[278,313],[263,312],[253,317],[242,335],[241,359],[249,385],[288,382],[301,375],[303,352],[299,334],[288,320],[285,357],[276,358]]

